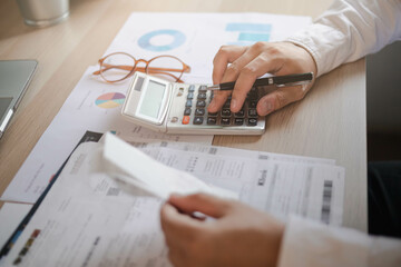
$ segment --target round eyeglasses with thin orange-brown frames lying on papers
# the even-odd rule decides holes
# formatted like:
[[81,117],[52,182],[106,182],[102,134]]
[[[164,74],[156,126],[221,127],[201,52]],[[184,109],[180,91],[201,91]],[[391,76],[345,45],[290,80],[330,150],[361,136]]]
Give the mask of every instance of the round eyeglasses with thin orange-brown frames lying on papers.
[[[145,63],[139,67],[139,63]],[[164,79],[183,82],[180,79],[184,72],[190,72],[190,67],[183,60],[168,55],[158,56],[150,60],[135,59],[129,53],[115,52],[99,59],[100,70],[92,75],[100,75],[107,82],[125,80],[135,71],[158,76]]]

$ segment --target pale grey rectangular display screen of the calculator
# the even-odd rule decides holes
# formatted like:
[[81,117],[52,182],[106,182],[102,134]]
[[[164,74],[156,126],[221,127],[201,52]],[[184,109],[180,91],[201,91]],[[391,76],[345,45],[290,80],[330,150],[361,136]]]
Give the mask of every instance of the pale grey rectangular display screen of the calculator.
[[145,96],[139,108],[141,115],[157,119],[166,86],[157,81],[149,80],[145,90]]

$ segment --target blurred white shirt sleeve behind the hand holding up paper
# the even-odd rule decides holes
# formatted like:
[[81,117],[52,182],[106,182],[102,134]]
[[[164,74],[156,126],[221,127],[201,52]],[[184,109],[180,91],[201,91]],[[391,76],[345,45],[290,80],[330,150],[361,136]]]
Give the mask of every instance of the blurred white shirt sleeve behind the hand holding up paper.
[[401,266],[401,240],[291,217],[278,267]]

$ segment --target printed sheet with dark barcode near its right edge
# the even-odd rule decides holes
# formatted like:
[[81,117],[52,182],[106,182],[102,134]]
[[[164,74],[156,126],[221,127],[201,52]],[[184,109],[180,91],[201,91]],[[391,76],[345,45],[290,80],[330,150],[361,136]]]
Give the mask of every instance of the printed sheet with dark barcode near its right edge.
[[235,150],[231,156],[165,147],[141,150],[207,184],[236,191],[241,201],[283,220],[296,214],[330,225],[342,224],[345,175],[342,167],[244,158],[236,156]]

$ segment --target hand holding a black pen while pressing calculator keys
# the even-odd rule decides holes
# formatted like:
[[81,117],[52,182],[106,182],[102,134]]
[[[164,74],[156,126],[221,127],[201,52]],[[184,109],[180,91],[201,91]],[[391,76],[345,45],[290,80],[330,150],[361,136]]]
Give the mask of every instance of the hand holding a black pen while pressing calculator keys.
[[[231,63],[231,65],[228,65]],[[251,47],[224,46],[216,53],[213,69],[213,83],[234,81],[231,110],[238,112],[257,77],[265,73],[284,76],[313,72],[316,65],[303,48],[291,42],[256,42]],[[265,116],[274,110],[304,98],[313,82],[307,86],[277,88],[257,102],[257,113]],[[227,100],[231,91],[217,91],[209,112],[217,112]]]

